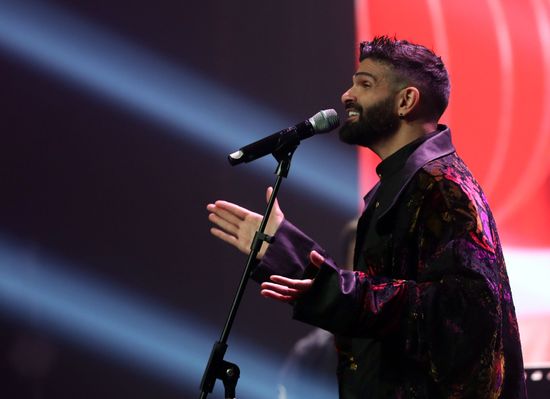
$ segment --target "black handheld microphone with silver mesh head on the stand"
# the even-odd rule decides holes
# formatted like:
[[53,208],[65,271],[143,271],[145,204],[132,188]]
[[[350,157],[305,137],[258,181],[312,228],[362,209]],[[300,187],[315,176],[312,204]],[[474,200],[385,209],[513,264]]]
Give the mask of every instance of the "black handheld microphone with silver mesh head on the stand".
[[338,114],[333,109],[317,112],[311,118],[264,137],[232,152],[227,159],[233,166],[243,162],[251,162],[286,145],[298,145],[300,141],[318,133],[326,133],[340,124]]

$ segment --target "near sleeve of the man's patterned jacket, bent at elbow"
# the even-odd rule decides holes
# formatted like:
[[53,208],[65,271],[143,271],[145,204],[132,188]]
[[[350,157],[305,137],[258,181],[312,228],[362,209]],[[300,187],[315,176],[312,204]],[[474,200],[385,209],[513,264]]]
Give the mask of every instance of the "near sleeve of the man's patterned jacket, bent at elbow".
[[372,277],[329,260],[294,317],[344,336],[391,340],[429,370],[442,394],[498,390],[504,265],[488,208],[473,197],[460,184],[434,179],[418,204],[418,264],[409,265],[416,279]]

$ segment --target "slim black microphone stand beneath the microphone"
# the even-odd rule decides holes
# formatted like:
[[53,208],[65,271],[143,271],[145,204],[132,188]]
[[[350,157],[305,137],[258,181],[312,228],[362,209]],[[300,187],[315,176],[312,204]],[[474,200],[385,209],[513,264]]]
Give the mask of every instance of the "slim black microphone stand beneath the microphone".
[[237,366],[236,364],[224,360],[224,355],[227,351],[227,340],[229,338],[231,327],[233,326],[233,321],[235,320],[235,316],[237,315],[237,310],[244,295],[246,284],[248,283],[248,279],[252,274],[254,264],[256,262],[256,257],[258,256],[260,248],[262,247],[262,243],[264,241],[267,243],[271,243],[273,241],[272,237],[264,233],[265,228],[267,226],[269,216],[271,215],[273,204],[277,199],[277,194],[279,192],[279,188],[281,187],[282,180],[283,178],[286,178],[288,176],[288,172],[290,171],[290,162],[292,161],[292,155],[294,155],[294,151],[296,151],[296,148],[298,148],[299,144],[300,142],[295,140],[291,140],[290,142],[286,143],[283,142],[272,154],[279,162],[277,170],[275,171],[277,179],[275,181],[275,185],[273,186],[273,192],[269,197],[267,208],[260,223],[260,227],[258,228],[258,231],[256,231],[254,239],[252,240],[252,244],[250,246],[250,254],[248,255],[246,266],[244,268],[239,287],[237,288],[237,292],[233,299],[233,303],[229,310],[225,326],[223,327],[222,333],[220,335],[220,339],[214,343],[214,346],[212,347],[212,352],[210,352],[210,358],[208,359],[208,363],[206,365],[206,369],[204,370],[200,385],[200,399],[206,399],[208,394],[212,393],[212,390],[214,389],[214,384],[216,383],[216,379],[219,379],[223,382],[226,399],[236,398],[235,390],[237,387],[237,381],[240,376],[240,369],[239,366]]

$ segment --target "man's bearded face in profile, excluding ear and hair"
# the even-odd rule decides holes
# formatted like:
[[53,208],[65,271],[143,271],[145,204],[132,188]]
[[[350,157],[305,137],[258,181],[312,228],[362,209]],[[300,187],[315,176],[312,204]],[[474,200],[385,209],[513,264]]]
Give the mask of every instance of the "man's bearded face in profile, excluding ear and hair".
[[342,95],[347,119],[340,128],[340,140],[372,148],[391,137],[399,128],[396,89],[387,65],[365,59],[353,75],[353,85]]

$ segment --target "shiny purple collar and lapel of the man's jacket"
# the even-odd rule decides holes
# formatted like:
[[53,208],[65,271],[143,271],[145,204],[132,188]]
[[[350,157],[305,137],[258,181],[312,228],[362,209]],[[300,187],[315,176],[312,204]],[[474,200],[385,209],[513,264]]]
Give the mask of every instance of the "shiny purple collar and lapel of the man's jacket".
[[[391,189],[388,193],[391,201],[382,205],[383,208],[379,211],[379,219],[383,218],[393,208],[405,186],[424,165],[456,151],[451,141],[451,130],[445,125],[438,125],[437,130],[439,133],[427,139],[412,153],[403,169],[389,177],[392,180],[392,184],[388,185]],[[379,187],[380,182],[365,196],[365,208],[369,206]]]

